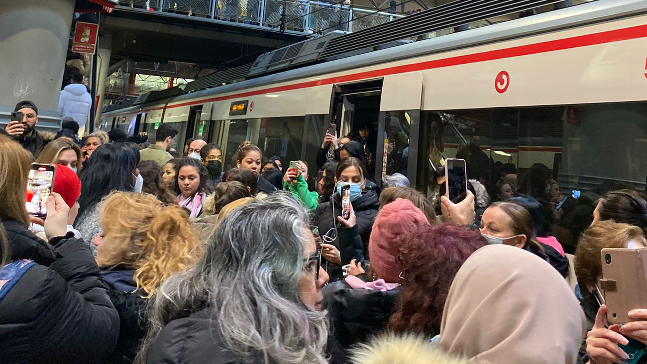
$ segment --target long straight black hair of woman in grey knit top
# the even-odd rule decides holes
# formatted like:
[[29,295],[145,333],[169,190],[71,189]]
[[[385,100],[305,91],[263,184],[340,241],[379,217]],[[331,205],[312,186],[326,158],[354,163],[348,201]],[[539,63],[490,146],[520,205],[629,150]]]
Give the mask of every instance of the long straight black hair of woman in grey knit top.
[[83,164],[80,172],[79,213],[91,209],[112,191],[132,191],[133,173],[139,162],[137,146],[131,143],[102,144]]

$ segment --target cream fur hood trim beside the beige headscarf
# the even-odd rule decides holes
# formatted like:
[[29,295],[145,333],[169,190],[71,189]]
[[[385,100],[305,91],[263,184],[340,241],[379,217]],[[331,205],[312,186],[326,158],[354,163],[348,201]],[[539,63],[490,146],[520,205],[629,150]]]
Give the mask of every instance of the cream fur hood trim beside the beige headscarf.
[[446,354],[429,339],[413,334],[384,334],[360,345],[351,353],[353,364],[466,364],[468,361]]

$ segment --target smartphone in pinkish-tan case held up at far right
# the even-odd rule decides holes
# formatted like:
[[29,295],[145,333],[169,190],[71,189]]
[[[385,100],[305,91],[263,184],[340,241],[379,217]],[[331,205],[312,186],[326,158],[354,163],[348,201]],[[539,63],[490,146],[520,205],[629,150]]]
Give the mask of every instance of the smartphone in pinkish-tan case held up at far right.
[[600,253],[602,280],[610,324],[633,321],[628,313],[647,308],[647,247],[640,249],[605,248]]

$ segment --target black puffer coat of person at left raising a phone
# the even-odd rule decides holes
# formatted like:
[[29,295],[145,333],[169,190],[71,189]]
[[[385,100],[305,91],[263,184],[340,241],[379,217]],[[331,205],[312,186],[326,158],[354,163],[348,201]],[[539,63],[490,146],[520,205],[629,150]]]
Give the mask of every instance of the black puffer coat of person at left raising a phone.
[[102,363],[114,350],[119,317],[85,242],[72,233],[43,242],[3,222],[11,260],[32,266],[0,301],[3,363]]

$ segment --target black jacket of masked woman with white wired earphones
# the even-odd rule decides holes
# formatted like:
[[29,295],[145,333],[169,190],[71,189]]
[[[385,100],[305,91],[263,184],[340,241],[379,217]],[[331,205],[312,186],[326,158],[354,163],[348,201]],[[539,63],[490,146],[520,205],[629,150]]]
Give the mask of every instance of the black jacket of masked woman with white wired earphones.
[[[325,235],[333,226],[338,229],[342,227],[342,224],[338,222],[337,216],[340,216],[342,205],[341,197],[339,194],[335,193],[333,195],[334,200],[334,216],[333,208],[331,202],[321,203],[314,210],[314,225],[317,226],[319,234],[321,236]],[[362,242],[364,243],[364,256],[368,258],[368,240],[371,236],[371,229],[373,228],[373,221],[375,221],[375,216],[377,216],[378,209],[380,207],[380,201],[378,199],[377,192],[375,190],[364,190],[362,196],[353,201],[353,210],[355,210],[355,218],[357,220],[356,228]],[[332,233],[331,233],[332,235]],[[338,236],[335,237],[334,241],[331,242],[337,249],[342,249],[339,244]],[[330,275],[331,282],[334,280],[340,279],[342,269],[339,266],[336,266],[332,263],[323,263],[322,265]]]

